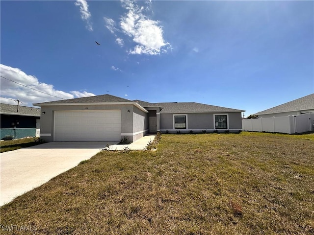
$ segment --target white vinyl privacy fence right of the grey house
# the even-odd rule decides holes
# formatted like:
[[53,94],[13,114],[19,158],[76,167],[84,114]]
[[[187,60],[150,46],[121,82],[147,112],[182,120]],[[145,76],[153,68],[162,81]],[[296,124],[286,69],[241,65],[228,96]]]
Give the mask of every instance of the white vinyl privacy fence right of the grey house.
[[288,134],[314,131],[314,113],[285,117],[242,119],[242,130]]

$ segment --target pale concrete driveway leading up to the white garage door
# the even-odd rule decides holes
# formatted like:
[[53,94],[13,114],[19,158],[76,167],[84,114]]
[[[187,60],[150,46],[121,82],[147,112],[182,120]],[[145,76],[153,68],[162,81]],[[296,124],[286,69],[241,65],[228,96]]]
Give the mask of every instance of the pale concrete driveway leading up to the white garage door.
[[0,154],[0,206],[117,142],[49,142]]

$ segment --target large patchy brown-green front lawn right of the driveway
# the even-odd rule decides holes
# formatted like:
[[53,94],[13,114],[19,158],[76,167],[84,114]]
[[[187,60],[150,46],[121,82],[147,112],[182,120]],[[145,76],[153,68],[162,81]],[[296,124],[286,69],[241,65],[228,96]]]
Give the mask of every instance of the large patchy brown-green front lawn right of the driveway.
[[0,224],[53,235],[314,234],[313,134],[162,135],[157,147],[100,152],[1,207]]

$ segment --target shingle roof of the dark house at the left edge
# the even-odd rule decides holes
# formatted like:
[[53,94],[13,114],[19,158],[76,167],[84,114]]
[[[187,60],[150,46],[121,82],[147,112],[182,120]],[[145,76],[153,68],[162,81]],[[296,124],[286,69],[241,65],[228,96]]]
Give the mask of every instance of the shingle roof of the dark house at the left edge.
[[20,116],[35,116],[40,117],[40,109],[34,107],[27,107],[19,105],[19,112],[18,106],[12,104],[0,104],[0,113],[6,115],[20,115]]

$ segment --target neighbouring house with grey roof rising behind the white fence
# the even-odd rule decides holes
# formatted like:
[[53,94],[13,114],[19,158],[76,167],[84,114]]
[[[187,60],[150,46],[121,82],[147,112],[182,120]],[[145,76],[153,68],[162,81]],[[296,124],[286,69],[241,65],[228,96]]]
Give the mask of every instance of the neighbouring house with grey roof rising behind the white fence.
[[314,94],[254,114],[259,118],[284,117],[314,112]]

